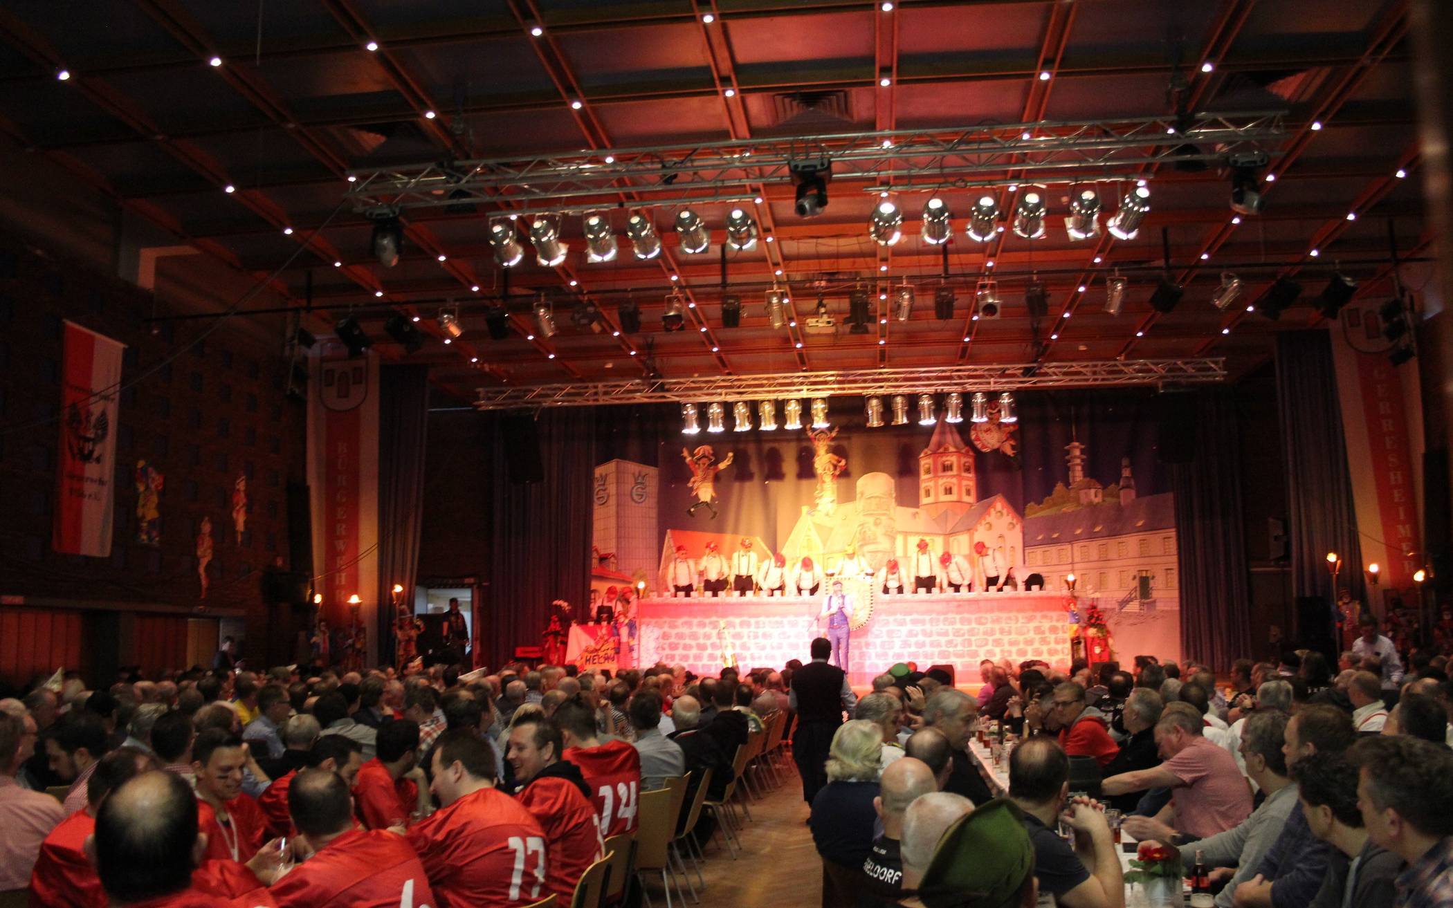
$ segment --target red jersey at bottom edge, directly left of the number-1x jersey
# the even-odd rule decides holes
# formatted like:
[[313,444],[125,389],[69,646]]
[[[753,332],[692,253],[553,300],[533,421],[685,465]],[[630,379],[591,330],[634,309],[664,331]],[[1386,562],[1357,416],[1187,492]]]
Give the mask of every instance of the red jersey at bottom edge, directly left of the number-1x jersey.
[[401,837],[349,830],[272,885],[279,908],[437,905],[424,864]]

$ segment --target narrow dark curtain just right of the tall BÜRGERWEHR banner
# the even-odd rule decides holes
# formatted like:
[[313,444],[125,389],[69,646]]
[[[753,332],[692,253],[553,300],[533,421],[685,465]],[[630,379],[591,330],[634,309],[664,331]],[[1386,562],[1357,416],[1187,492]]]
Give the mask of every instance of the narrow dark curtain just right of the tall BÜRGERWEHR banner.
[[413,607],[418,574],[418,527],[424,511],[424,440],[429,426],[429,366],[386,366],[379,376],[378,413],[378,654],[394,660],[394,584]]

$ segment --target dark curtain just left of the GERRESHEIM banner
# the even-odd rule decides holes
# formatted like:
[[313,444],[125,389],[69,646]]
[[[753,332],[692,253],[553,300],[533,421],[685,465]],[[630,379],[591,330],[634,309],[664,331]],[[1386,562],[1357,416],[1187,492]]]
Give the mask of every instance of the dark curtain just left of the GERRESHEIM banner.
[[1337,552],[1343,559],[1337,585],[1363,600],[1361,546],[1325,331],[1276,336],[1276,395],[1287,475],[1292,596],[1316,596],[1329,606],[1334,591],[1327,554]]

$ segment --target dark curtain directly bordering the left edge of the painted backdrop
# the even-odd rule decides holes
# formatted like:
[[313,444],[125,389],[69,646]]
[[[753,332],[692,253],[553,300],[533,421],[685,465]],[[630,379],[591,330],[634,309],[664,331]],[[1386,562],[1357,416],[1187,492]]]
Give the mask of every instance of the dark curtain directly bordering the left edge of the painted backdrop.
[[[543,410],[533,421],[533,439],[509,417],[482,418],[493,423],[493,545],[481,661],[501,665],[514,646],[541,642],[551,601],[564,599],[583,615],[590,599],[597,414],[594,407]],[[511,458],[532,458],[535,442],[543,481],[511,481]]]

